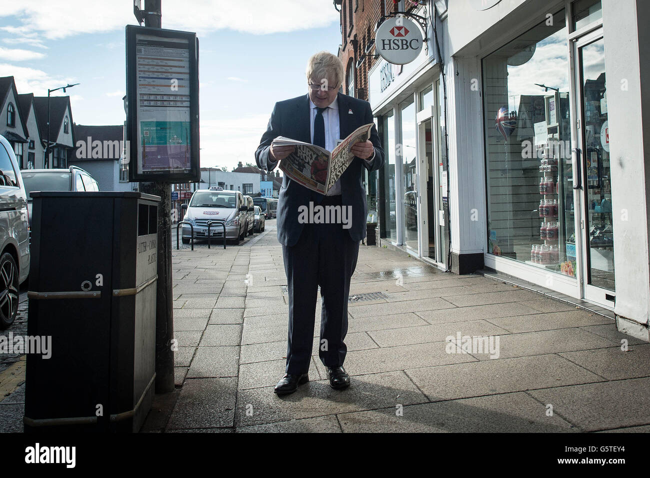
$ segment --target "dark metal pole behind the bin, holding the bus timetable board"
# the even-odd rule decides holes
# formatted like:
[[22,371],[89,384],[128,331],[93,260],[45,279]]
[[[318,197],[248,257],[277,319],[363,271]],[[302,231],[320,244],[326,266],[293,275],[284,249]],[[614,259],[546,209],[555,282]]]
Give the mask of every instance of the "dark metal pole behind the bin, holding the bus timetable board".
[[[162,28],[161,0],[145,0],[144,25]],[[135,107],[136,105],[129,105]],[[172,302],[172,187],[140,183],[140,191],[161,197],[158,208],[158,281],[156,300],[156,393],[174,391],[174,304]]]

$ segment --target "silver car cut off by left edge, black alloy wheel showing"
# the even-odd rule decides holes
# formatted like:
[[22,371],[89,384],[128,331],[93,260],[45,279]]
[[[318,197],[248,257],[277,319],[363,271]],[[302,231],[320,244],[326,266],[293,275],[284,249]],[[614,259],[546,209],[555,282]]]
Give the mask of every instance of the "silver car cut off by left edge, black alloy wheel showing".
[[0,135],[0,329],[14,323],[29,274],[29,211],[16,155]]

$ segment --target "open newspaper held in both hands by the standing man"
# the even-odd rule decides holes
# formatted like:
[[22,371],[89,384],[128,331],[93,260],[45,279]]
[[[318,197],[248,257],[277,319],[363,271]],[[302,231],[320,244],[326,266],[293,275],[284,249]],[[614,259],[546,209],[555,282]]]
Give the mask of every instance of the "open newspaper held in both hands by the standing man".
[[358,127],[331,153],[315,144],[278,136],[273,140],[273,146],[296,147],[293,153],[280,161],[279,168],[311,191],[326,194],[352,163],[352,146],[369,139],[373,126],[374,123],[369,123]]

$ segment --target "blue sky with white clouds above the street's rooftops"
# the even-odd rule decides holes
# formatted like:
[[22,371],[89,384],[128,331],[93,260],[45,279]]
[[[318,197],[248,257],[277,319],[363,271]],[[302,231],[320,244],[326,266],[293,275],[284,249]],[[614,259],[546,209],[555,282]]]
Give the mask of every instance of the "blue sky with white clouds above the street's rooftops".
[[[66,92],[76,124],[123,124],[127,24],[132,0],[5,0],[0,77],[35,96],[80,83]],[[228,170],[255,164],[274,103],[305,94],[309,57],[341,44],[330,0],[162,0],[162,27],[197,33],[201,167]]]

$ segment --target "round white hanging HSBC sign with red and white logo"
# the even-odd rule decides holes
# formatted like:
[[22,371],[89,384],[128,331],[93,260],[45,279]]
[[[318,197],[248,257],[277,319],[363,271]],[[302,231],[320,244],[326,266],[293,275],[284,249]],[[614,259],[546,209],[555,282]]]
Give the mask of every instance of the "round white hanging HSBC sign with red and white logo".
[[385,20],[377,29],[374,47],[389,63],[403,65],[417,58],[422,50],[422,35],[417,25],[407,18]]

